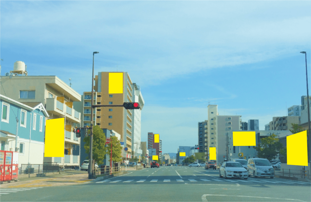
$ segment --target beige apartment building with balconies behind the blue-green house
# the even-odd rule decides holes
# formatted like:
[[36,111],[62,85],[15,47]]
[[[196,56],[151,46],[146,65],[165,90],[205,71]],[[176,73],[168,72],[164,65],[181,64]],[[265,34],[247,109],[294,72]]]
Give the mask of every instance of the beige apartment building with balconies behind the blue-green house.
[[[28,74],[26,74],[28,75]],[[81,101],[81,95],[57,76],[2,76],[2,87],[7,97],[18,102],[41,102],[49,114],[48,119],[65,118],[64,157],[44,157],[44,162],[57,162],[65,168],[79,166],[77,145],[80,139],[72,132],[80,123],[80,112],[73,108]]]

